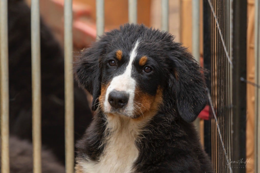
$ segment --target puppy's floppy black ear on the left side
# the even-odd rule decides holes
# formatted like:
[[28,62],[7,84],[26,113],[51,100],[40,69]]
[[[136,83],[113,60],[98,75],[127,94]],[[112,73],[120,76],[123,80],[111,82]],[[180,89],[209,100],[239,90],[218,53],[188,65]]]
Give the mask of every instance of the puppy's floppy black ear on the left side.
[[87,89],[93,96],[92,110],[96,110],[99,105],[102,73],[99,61],[102,58],[104,48],[104,44],[96,42],[92,47],[83,50],[74,67],[79,86]]

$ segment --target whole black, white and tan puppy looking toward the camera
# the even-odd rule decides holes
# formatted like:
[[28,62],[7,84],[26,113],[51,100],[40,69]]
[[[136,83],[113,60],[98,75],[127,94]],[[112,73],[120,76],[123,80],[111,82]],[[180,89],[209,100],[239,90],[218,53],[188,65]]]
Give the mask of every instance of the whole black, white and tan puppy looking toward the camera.
[[96,114],[77,173],[212,171],[191,123],[207,103],[201,68],[173,39],[125,24],[81,52],[75,74]]

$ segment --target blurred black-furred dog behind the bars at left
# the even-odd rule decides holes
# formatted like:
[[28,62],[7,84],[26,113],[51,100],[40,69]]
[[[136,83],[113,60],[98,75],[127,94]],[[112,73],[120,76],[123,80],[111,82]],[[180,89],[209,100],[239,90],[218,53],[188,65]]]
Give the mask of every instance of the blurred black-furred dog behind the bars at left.
[[[31,140],[30,9],[8,1],[10,133]],[[64,163],[64,57],[51,31],[41,22],[42,143]],[[75,140],[92,119],[84,91],[75,85]]]

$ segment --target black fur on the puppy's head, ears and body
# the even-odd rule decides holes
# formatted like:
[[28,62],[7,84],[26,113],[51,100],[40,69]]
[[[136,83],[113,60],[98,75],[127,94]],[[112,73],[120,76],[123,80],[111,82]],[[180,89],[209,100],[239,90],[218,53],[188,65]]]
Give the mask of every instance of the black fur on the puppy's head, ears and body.
[[[197,132],[190,122],[196,119],[207,103],[205,83],[199,64],[186,48],[173,42],[167,32],[148,29],[144,25],[125,24],[106,32],[91,48],[82,52],[75,73],[81,87],[93,94],[93,109],[98,108],[101,83],[107,84],[122,73],[129,60],[129,52],[139,40],[138,53],[131,76],[141,91],[155,95],[162,88],[163,104],[145,126],[136,141],[139,157],[136,172],[211,172],[209,157],[203,151]],[[116,61],[115,51],[122,50],[122,60]],[[148,56],[153,69],[142,72],[138,58]],[[107,62],[113,59],[116,67]],[[106,123],[101,109],[78,142],[78,158],[97,161],[104,150]],[[137,115],[136,115],[137,117]]]

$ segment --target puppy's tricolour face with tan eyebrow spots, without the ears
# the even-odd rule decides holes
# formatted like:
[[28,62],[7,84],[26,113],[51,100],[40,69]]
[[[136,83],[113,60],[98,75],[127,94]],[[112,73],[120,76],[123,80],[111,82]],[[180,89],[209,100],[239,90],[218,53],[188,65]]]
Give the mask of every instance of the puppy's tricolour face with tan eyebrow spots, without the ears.
[[146,42],[114,45],[102,59],[99,104],[107,114],[137,118],[162,104],[161,69]]

